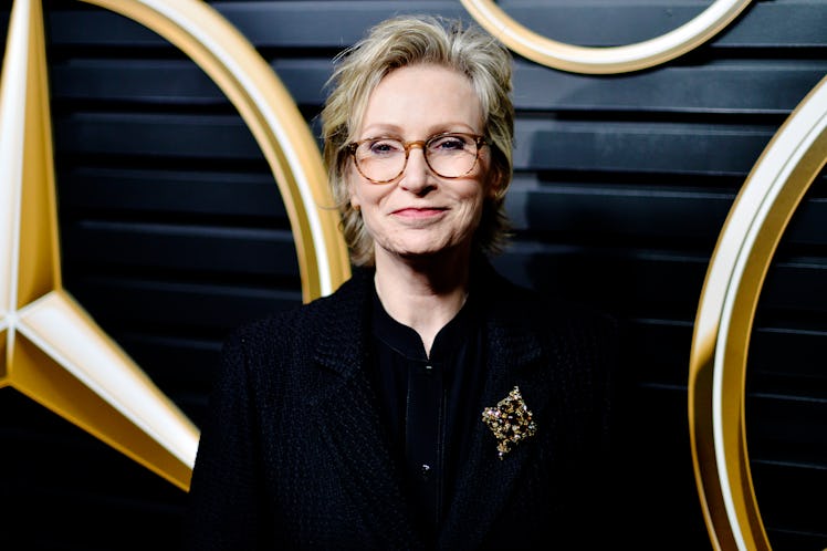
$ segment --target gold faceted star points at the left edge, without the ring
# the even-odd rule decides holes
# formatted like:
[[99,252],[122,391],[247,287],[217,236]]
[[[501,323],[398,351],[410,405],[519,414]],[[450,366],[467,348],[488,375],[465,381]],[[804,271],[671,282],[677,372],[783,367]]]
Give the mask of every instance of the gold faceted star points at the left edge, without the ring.
[[42,19],[14,4],[0,85],[0,386],[186,488],[198,429],[63,289]]

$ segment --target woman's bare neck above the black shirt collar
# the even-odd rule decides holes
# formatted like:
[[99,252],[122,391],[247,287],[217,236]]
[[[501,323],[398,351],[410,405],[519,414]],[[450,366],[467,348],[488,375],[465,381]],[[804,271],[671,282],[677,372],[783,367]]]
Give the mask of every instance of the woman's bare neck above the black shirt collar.
[[376,292],[388,314],[419,333],[430,355],[437,333],[468,297],[470,254],[404,259],[377,254]]

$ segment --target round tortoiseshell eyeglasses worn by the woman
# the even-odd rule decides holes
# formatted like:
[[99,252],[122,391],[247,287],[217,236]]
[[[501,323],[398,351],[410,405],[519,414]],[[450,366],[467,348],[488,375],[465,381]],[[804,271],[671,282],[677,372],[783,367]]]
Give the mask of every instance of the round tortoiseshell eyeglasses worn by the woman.
[[448,132],[416,142],[371,137],[352,142],[347,149],[362,176],[374,184],[387,184],[405,171],[414,147],[422,149],[425,162],[437,176],[461,178],[474,169],[480,148],[486,143],[484,136]]

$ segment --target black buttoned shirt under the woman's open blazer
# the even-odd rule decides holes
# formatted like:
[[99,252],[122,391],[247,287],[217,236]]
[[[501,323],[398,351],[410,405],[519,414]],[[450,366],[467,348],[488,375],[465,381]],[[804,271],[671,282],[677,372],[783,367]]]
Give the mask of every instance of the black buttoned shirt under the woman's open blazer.
[[430,357],[419,334],[394,320],[374,290],[373,374],[417,520],[432,538],[450,503],[471,427],[482,423],[481,315],[474,293],[437,334]]

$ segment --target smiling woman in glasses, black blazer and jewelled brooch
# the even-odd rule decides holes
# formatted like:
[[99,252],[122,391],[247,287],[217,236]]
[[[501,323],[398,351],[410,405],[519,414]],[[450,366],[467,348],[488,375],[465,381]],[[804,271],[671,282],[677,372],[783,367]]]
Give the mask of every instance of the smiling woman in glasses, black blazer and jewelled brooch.
[[595,533],[573,528],[603,522],[592,467],[613,325],[485,259],[507,228],[507,51],[405,17],[339,61],[324,156],[357,268],[227,343],[191,549],[546,549]]

